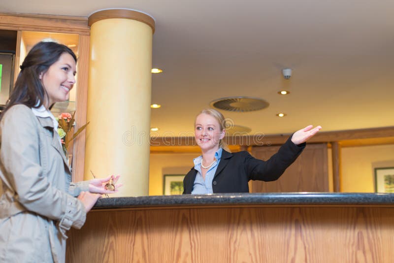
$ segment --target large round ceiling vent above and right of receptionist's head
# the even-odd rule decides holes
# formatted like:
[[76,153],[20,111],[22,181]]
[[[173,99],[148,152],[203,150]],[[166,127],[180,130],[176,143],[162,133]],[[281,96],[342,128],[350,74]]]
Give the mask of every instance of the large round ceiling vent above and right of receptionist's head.
[[264,109],[269,103],[257,98],[228,97],[213,100],[210,105],[218,109],[243,112]]

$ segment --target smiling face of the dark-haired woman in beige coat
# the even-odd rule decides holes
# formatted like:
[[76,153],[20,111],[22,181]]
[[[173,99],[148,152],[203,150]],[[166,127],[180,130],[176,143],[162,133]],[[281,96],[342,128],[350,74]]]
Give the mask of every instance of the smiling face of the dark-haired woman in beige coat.
[[75,73],[76,63],[74,58],[68,53],[63,53],[45,73],[40,74],[39,78],[49,99],[49,101],[44,102],[46,108],[55,102],[68,99],[69,91],[75,84]]

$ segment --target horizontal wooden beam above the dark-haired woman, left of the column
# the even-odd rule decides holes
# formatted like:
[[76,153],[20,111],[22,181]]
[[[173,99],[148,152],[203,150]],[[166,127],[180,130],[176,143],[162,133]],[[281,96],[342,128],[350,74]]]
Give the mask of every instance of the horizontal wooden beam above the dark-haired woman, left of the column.
[[0,13],[0,29],[89,35],[88,18]]

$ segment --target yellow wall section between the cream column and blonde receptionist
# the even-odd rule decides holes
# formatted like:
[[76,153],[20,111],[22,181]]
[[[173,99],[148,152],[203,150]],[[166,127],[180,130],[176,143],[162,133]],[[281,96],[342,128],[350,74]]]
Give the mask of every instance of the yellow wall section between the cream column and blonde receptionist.
[[164,174],[185,174],[199,153],[153,153],[149,161],[149,196],[163,195]]

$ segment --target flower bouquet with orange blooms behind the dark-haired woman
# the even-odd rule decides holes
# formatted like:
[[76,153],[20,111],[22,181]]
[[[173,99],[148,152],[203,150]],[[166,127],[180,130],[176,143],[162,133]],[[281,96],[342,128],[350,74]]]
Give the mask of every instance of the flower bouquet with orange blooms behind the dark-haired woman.
[[82,126],[81,128],[78,129],[78,131],[74,132],[72,135],[70,134],[71,129],[75,126],[75,119],[74,119],[75,111],[71,115],[69,113],[62,113],[59,115],[57,118],[59,127],[58,127],[58,134],[62,142],[63,146],[63,151],[65,152],[65,155],[67,156],[67,149],[69,143],[75,139],[76,136],[78,136],[79,133],[81,133],[86,126],[88,126],[89,122]]

